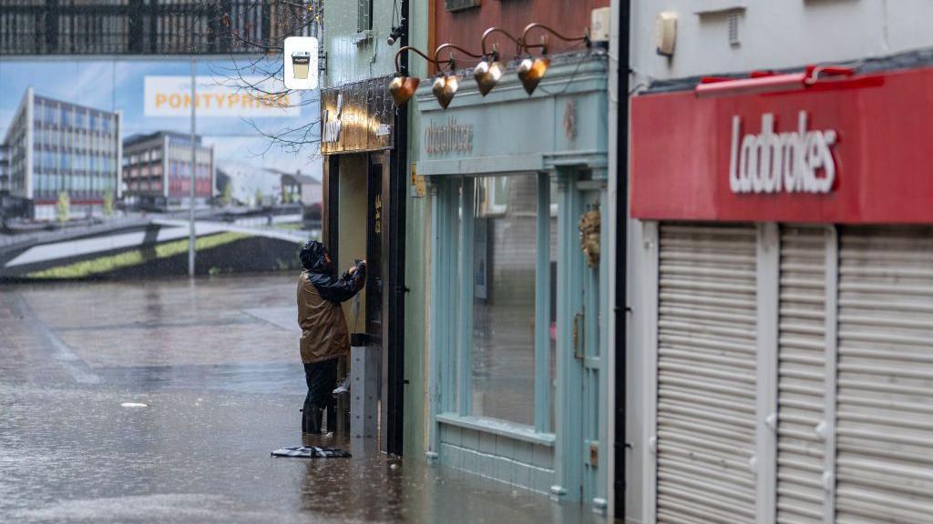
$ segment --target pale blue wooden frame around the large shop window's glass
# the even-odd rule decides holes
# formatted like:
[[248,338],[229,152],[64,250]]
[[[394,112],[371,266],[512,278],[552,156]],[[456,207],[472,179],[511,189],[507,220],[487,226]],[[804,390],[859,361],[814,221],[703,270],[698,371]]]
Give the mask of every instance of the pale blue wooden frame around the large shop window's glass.
[[[553,428],[556,426],[552,424],[550,414],[550,296],[556,290],[550,285],[550,221],[554,207],[551,205],[548,172],[536,173],[536,209],[548,212],[536,214],[534,423],[476,417],[471,402],[475,284],[473,244],[477,217],[461,210],[473,208],[475,187],[478,182],[487,186],[482,182],[485,177],[521,174],[528,173],[447,176],[436,181],[437,213],[432,217],[432,223],[437,231],[434,259],[439,263],[432,271],[432,298],[436,306],[432,308],[432,331],[435,335],[430,343],[437,359],[437,367],[432,372],[436,384],[432,408],[435,421],[478,426],[493,433],[506,432],[517,439],[552,445]],[[487,211],[483,215],[489,216]]]

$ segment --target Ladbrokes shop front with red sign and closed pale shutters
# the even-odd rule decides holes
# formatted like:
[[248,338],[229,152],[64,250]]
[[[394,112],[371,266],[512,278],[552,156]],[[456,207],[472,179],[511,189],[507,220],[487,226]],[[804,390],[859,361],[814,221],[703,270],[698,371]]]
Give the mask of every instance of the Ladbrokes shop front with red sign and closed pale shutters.
[[933,69],[632,103],[643,522],[933,511]]

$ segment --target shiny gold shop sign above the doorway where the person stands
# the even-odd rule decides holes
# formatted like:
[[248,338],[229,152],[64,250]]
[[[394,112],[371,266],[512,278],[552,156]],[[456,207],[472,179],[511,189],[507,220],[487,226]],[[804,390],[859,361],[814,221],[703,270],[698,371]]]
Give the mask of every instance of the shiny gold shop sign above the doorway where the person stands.
[[395,107],[389,76],[321,90],[321,154],[391,149]]

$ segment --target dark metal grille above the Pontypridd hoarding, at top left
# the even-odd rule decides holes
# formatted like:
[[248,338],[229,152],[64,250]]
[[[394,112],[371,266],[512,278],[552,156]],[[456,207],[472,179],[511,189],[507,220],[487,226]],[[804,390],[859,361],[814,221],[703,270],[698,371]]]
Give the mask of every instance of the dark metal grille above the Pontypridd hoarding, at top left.
[[317,4],[0,0],[0,55],[263,53],[285,36],[312,35]]

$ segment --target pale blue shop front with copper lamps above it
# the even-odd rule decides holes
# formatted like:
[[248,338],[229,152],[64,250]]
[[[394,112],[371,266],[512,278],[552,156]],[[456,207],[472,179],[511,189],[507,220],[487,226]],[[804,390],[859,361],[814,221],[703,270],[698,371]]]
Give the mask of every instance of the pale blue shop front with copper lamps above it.
[[[430,458],[605,504],[606,57],[418,91],[431,209]],[[601,228],[601,226],[603,226]],[[581,241],[581,239],[583,241]]]

